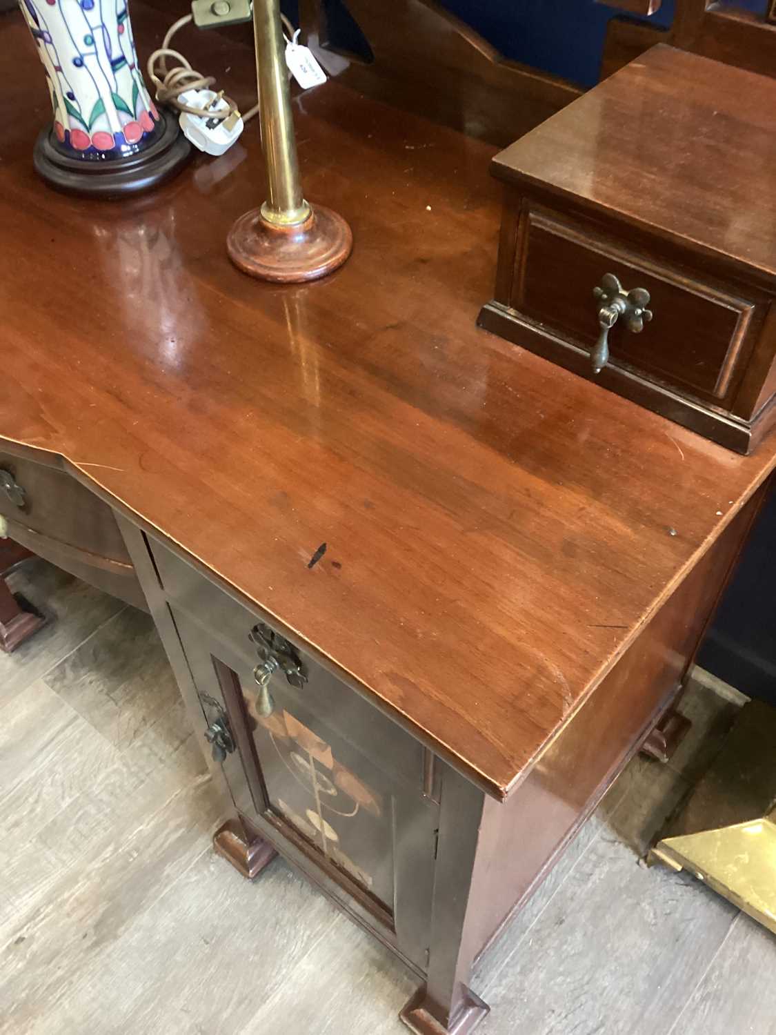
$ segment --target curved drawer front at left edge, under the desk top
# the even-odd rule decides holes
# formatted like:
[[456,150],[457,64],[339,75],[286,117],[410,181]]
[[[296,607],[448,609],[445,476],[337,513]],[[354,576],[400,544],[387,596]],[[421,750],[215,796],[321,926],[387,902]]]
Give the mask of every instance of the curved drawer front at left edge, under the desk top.
[[113,511],[69,474],[0,452],[0,479],[4,518],[95,559],[117,561],[131,569]]

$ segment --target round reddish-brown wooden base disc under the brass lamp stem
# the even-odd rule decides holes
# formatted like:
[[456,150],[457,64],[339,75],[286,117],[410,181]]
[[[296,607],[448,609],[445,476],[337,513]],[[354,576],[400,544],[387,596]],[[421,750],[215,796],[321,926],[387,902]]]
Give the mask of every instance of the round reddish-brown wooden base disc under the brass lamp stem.
[[353,234],[341,215],[323,205],[296,227],[268,223],[255,208],[232,227],[227,248],[232,262],[250,276],[299,284],[341,266],[353,248]]

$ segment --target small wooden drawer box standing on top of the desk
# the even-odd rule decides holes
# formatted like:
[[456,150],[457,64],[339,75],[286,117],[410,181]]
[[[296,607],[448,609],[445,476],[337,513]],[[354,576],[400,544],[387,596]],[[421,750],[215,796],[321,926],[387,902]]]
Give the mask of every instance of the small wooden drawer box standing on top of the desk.
[[494,173],[481,326],[749,452],[776,418],[776,82],[655,47]]

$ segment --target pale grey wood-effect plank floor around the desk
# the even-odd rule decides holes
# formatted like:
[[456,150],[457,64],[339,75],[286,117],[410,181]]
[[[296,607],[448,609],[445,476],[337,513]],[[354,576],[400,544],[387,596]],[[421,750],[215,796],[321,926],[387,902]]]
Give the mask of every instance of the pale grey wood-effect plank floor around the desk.
[[[214,856],[214,793],[150,619],[41,561],[0,654],[2,1035],[401,1035],[415,979],[280,859]],[[703,674],[699,675],[703,679]],[[482,1035],[776,1035],[776,939],[639,863],[738,705],[696,683],[483,958]]]

